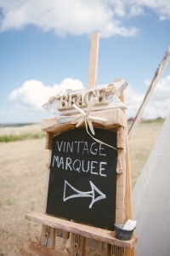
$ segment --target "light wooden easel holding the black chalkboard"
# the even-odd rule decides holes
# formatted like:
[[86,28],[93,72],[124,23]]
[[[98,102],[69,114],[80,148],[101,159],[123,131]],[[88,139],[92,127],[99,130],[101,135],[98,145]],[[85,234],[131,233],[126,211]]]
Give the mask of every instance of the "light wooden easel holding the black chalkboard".
[[[94,87],[97,78],[97,64],[99,52],[99,33],[95,32],[91,38],[89,72],[88,72],[88,88]],[[117,82],[117,79],[114,82]],[[120,96],[124,102],[123,94]],[[102,115],[107,117],[107,130],[117,132],[117,149],[121,155],[123,172],[116,176],[116,223],[124,224],[128,218],[133,219],[133,204],[132,204],[132,187],[131,174],[129,168],[128,142],[127,142],[127,123],[125,114],[121,109],[111,109],[101,111]],[[103,125],[104,126],[104,125]],[[71,124],[56,125],[56,118],[44,119],[42,122],[42,131],[47,131],[46,149],[49,149],[48,157],[48,175],[50,172],[52,141],[54,134],[71,129]],[[94,127],[99,127],[95,124]],[[126,161],[125,161],[126,159]],[[119,160],[117,161],[119,165]],[[78,224],[62,218],[51,217],[46,213],[47,196],[48,196],[48,178],[46,198],[44,205],[44,213],[33,212],[26,214],[26,219],[42,224],[42,235],[40,241],[31,241],[30,247],[23,248],[23,252],[29,255],[52,255],[66,256],[77,255],[85,256],[86,247],[93,247],[97,250],[104,249],[104,242],[107,243],[108,249],[105,255],[114,256],[135,256],[134,245],[137,238],[133,236],[130,241],[120,241],[115,237],[115,231],[103,230],[88,226],[86,224]],[[68,239],[71,233],[71,246],[65,248],[65,252],[54,249],[55,237],[59,236],[63,239]]]

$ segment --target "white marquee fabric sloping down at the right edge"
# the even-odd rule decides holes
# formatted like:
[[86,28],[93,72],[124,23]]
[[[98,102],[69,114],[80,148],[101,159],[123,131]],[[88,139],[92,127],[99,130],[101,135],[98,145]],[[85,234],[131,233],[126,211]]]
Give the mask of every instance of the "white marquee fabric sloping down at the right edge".
[[133,209],[137,256],[169,256],[170,113],[133,189]]

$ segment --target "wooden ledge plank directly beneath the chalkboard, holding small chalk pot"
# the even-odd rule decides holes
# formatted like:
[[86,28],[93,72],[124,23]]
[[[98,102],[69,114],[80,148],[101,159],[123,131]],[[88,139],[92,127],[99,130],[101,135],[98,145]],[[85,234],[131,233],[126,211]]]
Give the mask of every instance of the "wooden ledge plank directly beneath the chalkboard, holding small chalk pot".
[[39,212],[26,214],[26,219],[39,224],[48,225],[55,229],[61,229],[71,233],[79,234],[81,236],[93,238],[98,241],[105,241],[111,244],[115,244],[119,247],[132,248],[137,242],[137,238],[134,236],[130,241],[117,240],[115,237],[115,231],[103,230],[85,224],[77,224],[69,220],[52,217]]

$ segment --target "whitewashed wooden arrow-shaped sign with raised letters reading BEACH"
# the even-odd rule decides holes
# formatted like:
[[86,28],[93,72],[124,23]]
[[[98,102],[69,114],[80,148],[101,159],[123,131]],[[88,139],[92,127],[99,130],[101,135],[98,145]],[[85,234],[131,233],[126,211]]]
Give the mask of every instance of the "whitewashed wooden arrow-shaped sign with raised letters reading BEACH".
[[127,82],[122,80],[121,82],[100,85],[97,88],[61,92],[57,96],[49,98],[42,108],[56,116],[77,112],[73,108],[73,104],[82,108],[83,111],[87,111],[90,99],[95,96],[97,101],[93,108],[94,111],[113,108],[126,109],[127,107],[118,98],[126,87]]

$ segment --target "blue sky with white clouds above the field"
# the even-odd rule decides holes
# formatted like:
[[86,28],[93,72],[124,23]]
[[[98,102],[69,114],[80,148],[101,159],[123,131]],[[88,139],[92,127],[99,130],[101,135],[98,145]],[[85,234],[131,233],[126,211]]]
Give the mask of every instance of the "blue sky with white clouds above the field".
[[[122,77],[134,116],[170,44],[168,0],[0,0],[0,123],[41,122],[41,106],[65,88],[87,87],[90,35],[99,32],[97,84]],[[170,64],[144,118],[165,117]]]

